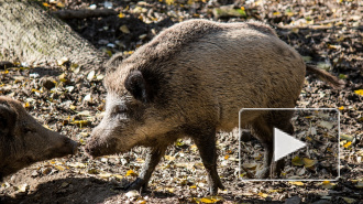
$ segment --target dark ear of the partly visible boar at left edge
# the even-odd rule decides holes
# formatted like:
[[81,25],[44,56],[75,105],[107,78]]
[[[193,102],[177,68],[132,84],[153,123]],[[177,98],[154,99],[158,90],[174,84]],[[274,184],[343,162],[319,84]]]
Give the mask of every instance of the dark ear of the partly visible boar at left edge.
[[16,114],[9,106],[0,104],[0,137],[9,136],[15,127]]

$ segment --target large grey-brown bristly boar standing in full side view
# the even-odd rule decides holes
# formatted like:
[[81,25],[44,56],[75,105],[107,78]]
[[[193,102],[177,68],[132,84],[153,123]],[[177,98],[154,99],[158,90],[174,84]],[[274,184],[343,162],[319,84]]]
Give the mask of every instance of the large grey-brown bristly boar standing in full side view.
[[[307,68],[338,83],[306,66],[294,49],[260,22],[186,21],[121,58],[107,64],[106,115],[86,152],[100,157],[150,147],[130,190],[145,190],[167,146],[190,137],[207,170],[209,191],[216,194],[224,189],[217,173],[216,132],[238,127],[241,108],[294,108]],[[266,178],[273,127],[292,132],[292,112],[253,112],[243,117],[242,126],[266,149],[264,169],[256,175]]]

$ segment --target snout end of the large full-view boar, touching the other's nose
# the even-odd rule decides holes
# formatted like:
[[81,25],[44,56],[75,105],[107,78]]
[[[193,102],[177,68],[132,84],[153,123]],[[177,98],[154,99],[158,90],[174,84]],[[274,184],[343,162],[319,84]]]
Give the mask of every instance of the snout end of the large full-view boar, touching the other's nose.
[[107,142],[94,139],[88,142],[88,144],[85,148],[85,151],[90,158],[109,155],[120,152],[118,151],[116,139],[110,139]]

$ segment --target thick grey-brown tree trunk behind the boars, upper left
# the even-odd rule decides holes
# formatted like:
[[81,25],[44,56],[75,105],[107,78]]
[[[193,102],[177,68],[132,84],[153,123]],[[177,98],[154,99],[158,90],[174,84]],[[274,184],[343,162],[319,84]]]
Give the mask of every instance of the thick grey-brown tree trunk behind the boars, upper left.
[[38,2],[0,0],[0,61],[54,65],[66,57],[86,69],[107,58]]

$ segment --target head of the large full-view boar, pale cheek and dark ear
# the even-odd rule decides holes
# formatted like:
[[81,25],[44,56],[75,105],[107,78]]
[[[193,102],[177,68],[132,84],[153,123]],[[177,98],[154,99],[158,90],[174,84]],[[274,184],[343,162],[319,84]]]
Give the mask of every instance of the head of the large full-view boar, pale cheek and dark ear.
[[[147,146],[153,137],[168,131],[155,98],[160,79],[139,69],[108,73],[106,112],[86,146],[91,157],[119,153]],[[158,97],[157,97],[158,98]]]

